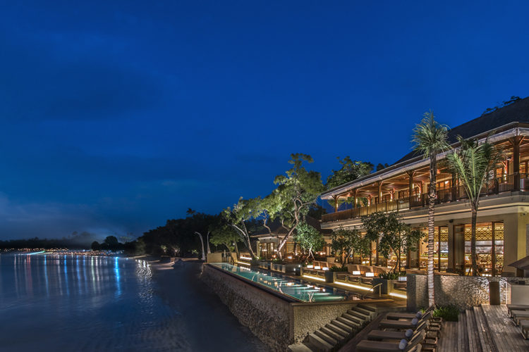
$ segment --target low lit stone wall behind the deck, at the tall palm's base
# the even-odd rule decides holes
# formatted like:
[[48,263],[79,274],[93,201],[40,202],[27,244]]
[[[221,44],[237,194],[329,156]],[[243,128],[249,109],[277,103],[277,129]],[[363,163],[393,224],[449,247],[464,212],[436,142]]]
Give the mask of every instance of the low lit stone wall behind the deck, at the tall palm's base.
[[[428,305],[426,275],[406,275],[408,278],[407,309],[417,310]],[[517,277],[472,277],[434,275],[436,306],[454,305],[464,310],[481,303],[489,303],[489,282],[499,281],[500,303],[505,304],[506,283],[521,280]],[[529,278],[524,279],[529,284]]]

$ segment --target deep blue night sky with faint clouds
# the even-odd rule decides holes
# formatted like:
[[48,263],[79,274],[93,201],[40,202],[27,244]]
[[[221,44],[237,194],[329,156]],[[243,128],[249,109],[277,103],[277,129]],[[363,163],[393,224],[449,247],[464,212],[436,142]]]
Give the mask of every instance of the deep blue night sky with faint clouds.
[[0,0],[0,238],[139,236],[529,95],[526,1],[430,2]]

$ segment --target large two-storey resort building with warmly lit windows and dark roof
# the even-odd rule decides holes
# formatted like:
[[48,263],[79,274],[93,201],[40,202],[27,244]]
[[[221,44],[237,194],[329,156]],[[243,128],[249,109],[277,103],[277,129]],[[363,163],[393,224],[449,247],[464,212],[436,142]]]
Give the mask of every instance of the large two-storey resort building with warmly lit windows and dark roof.
[[[509,101],[452,128],[449,143],[454,147],[458,135],[488,138],[505,153],[482,188],[476,248],[480,275],[515,275],[516,269],[508,265],[529,255],[529,98]],[[461,182],[442,163],[445,157],[438,156],[434,265],[439,272],[464,273],[471,263],[470,204]],[[334,213],[322,216],[322,229],[361,229],[363,215],[397,211],[404,222],[427,231],[429,173],[429,159],[411,152],[388,168],[324,192],[322,199],[336,206]],[[343,201],[348,208],[339,211]],[[391,264],[378,258],[376,244],[372,248],[373,264]],[[421,243],[418,251],[403,256],[402,265],[426,268],[426,260],[427,246]]]

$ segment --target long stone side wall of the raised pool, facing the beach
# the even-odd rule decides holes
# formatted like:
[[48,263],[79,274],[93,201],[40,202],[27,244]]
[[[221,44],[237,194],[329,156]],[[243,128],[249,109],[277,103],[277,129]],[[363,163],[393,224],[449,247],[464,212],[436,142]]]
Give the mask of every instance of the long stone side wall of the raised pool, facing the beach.
[[293,344],[292,310],[288,301],[204,265],[201,279],[228,306],[241,324],[274,351]]

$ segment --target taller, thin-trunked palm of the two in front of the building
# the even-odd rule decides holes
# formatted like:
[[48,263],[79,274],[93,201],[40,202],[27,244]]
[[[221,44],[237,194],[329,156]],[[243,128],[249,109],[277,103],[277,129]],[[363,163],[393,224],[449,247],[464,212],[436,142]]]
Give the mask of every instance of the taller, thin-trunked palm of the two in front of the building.
[[437,154],[450,148],[446,142],[448,126],[435,120],[432,111],[424,113],[422,121],[413,129],[413,149],[422,153],[424,158],[430,158],[430,191],[428,194],[428,306],[434,306],[434,202],[435,176],[437,173]]

